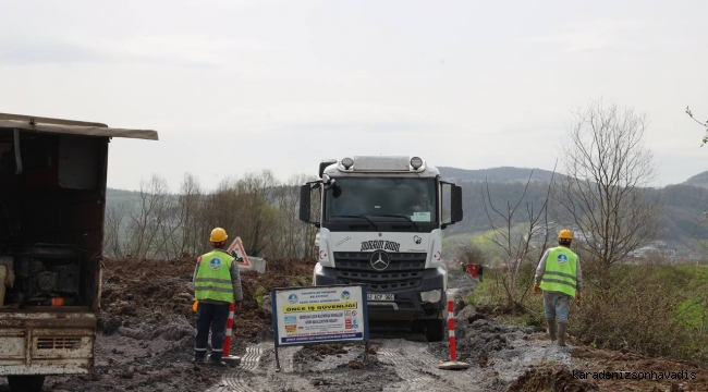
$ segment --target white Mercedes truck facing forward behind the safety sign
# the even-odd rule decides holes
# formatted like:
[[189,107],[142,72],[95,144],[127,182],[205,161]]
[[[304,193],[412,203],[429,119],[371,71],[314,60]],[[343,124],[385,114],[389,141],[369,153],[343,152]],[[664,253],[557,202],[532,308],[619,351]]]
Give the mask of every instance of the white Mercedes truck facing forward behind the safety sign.
[[406,320],[444,338],[442,230],[463,218],[462,189],[419,157],[326,160],[301,188],[300,219],[319,228],[314,285],[367,285],[371,320]]

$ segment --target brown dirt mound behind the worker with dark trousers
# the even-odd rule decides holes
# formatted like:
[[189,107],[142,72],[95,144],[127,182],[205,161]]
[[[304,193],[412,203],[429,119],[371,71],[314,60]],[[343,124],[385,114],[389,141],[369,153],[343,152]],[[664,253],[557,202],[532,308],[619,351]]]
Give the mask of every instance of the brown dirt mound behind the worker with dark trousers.
[[[175,317],[194,326],[195,314],[191,306],[195,262],[195,258],[106,260],[99,331],[110,335],[121,328],[137,329],[150,336],[174,334],[174,340],[187,334],[184,327],[155,330]],[[264,305],[267,305],[270,290],[309,284],[313,267],[309,260],[268,260],[268,271],[264,274],[242,271],[244,303],[242,311],[235,315],[236,336],[249,342],[268,339],[272,318],[270,307]],[[123,333],[132,332],[123,330]],[[148,338],[139,335],[137,339]]]

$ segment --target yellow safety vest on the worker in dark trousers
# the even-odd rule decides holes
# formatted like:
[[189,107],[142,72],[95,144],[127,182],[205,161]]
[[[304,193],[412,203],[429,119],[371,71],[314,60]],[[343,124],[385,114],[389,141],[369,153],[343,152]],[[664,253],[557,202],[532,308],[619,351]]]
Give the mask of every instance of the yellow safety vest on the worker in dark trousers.
[[231,265],[234,258],[225,252],[213,250],[203,255],[194,280],[194,296],[197,299],[233,302]]

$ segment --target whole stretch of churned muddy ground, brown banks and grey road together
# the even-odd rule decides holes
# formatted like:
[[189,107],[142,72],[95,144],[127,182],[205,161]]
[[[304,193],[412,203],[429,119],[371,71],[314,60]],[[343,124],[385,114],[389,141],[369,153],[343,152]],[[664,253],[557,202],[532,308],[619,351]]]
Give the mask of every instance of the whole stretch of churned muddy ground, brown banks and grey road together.
[[[156,277],[155,264],[162,262]],[[167,267],[167,268],[166,268]],[[708,391],[708,370],[695,364],[647,358],[636,353],[581,346],[560,348],[540,329],[521,328],[478,313],[461,299],[475,287],[453,273],[455,335],[466,370],[440,370],[448,343],[429,343],[407,323],[371,323],[370,344],[330,344],[280,348],[276,371],[271,287],[307,282],[312,262],[272,262],[267,274],[242,275],[246,302],[236,315],[231,345],[242,357],[234,368],[191,363],[194,314],[193,259],[173,261],[108,260],[103,308],[99,314],[96,372],[48,377],[45,391]],[[366,355],[365,355],[366,354]],[[573,371],[688,372],[688,380],[582,380]],[[0,379],[0,391],[9,391]]]

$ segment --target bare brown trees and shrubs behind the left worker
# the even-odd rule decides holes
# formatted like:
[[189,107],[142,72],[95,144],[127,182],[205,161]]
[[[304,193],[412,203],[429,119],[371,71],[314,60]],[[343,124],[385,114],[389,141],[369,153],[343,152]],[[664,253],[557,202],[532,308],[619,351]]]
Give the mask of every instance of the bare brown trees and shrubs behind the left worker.
[[199,255],[208,233],[222,226],[241,236],[249,256],[301,258],[315,254],[316,230],[298,220],[300,187],[306,176],[278,182],[270,171],[225,180],[205,192],[185,174],[179,195],[154,175],[141,184],[138,201],[109,208],[105,253],[109,257],[172,259]]

